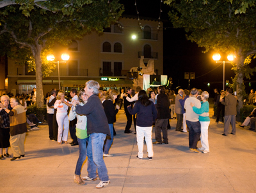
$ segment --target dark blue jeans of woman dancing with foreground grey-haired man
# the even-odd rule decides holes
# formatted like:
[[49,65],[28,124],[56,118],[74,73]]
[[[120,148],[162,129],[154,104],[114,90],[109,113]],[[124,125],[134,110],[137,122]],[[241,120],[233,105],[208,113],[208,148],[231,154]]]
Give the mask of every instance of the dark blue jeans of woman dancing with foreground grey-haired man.
[[79,139],[77,138],[78,144],[79,144],[79,157],[76,162],[76,170],[75,170],[75,175],[81,175],[81,169],[83,166],[83,163],[86,159],[86,148],[87,148],[87,143],[89,141],[89,138],[85,139]]

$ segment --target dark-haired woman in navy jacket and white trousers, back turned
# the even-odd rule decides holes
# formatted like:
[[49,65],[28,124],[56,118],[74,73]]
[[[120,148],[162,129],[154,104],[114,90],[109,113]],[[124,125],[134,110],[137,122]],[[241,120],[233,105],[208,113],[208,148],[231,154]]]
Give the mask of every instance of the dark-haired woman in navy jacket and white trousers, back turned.
[[140,90],[138,94],[138,101],[135,103],[133,108],[129,105],[127,110],[131,115],[135,115],[137,113],[137,158],[143,158],[143,142],[145,138],[148,160],[152,160],[154,155],[152,145],[152,123],[155,122],[157,116],[156,106],[152,101],[148,100],[147,92],[145,90]]

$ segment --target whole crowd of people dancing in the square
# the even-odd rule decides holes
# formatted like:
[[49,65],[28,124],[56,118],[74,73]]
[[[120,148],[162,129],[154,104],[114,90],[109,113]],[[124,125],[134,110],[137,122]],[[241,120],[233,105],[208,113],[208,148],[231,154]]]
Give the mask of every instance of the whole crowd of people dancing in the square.
[[[170,119],[177,118],[175,131],[189,132],[189,150],[204,154],[210,152],[208,141],[209,93],[200,89],[179,89],[175,95],[173,90],[163,86],[152,90],[136,87],[134,96],[128,87],[117,90],[99,90],[99,83],[94,80],[86,82],[86,87],[77,93],[76,89],[70,91],[71,100],[65,98],[65,92],[52,89],[46,100],[47,122],[49,125],[49,139],[57,141],[59,145],[65,143],[72,146],[79,145],[79,157],[76,164],[74,182],[84,185],[84,181],[97,180],[100,189],[109,185],[108,169],[103,157],[111,157],[109,150],[113,145],[116,134],[114,123],[116,114],[124,104],[124,113],[127,123],[125,134],[131,134],[132,115],[138,145],[138,159],[143,159],[143,143],[147,145],[147,159],[154,157],[153,145],[168,144],[168,129]],[[236,105],[237,98],[232,90],[226,92],[215,90],[214,116],[216,122],[225,120],[223,136],[227,136],[231,123],[232,132],[236,134]],[[35,91],[36,92],[36,91]],[[34,92],[34,94],[35,94]],[[9,104],[10,101],[10,104]],[[21,101],[21,103],[20,103]],[[24,139],[27,132],[26,108],[18,97],[11,99],[4,95],[0,103],[0,159],[10,157],[8,147],[12,147],[13,158],[20,159],[25,156]],[[68,113],[68,110],[69,113]],[[253,112],[255,109],[253,110]],[[252,113],[253,114],[253,113]],[[224,117],[224,118],[223,118]],[[249,118],[249,120],[252,118]],[[256,118],[255,118],[256,121]],[[33,123],[32,123],[33,124]],[[242,124],[243,127],[246,123]],[[155,141],[152,142],[152,128],[155,125]],[[68,143],[68,131],[72,142]],[[198,141],[202,147],[198,148]],[[3,150],[5,152],[3,152]],[[83,163],[88,157],[88,175],[81,178]]]

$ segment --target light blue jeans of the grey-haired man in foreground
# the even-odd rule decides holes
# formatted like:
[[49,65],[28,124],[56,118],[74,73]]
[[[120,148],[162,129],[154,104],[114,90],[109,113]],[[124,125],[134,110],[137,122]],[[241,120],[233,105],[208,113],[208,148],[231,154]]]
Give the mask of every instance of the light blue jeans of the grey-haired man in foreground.
[[96,170],[98,169],[99,178],[101,181],[108,181],[108,169],[103,160],[103,145],[106,139],[106,134],[95,133],[90,134],[87,146],[88,157],[88,176],[96,178]]

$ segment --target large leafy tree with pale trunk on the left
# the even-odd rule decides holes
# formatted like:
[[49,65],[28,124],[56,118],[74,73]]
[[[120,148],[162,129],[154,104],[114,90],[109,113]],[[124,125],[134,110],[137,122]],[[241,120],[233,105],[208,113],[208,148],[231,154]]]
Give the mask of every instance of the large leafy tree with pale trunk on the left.
[[124,8],[118,0],[0,1],[0,36],[12,38],[9,41],[12,50],[24,50],[14,53],[9,50],[10,56],[22,55],[31,66],[34,64],[39,107],[44,105],[42,68],[47,68],[47,50],[54,43],[67,45],[70,38],[102,32],[104,27],[116,22],[122,11]]

